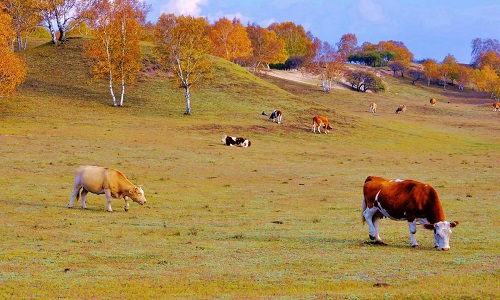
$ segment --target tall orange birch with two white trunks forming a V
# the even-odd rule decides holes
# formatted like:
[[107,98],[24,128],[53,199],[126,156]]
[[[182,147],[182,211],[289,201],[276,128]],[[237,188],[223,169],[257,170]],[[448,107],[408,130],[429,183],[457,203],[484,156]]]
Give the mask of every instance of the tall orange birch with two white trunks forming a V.
[[[146,11],[138,0],[103,0],[92,11],[93,39],[86,52],[94,59],[94,78],[108,79],[113,106],[123,106],[125,84],[133,84],[141,69],[139,27]],[[115,80],[121,84],[119,104],[113,91]]]

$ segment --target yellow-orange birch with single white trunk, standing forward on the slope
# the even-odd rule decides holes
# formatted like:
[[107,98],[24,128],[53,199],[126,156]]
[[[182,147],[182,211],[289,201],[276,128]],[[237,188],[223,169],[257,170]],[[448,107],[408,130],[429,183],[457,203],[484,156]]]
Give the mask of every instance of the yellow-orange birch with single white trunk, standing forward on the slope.
[[162,14],[155,27],[155,53],[166,70],[171,70],[185,90],[186,112],[191,115],[191,88],[214,72],[208,56],[210,25],[204,18]]

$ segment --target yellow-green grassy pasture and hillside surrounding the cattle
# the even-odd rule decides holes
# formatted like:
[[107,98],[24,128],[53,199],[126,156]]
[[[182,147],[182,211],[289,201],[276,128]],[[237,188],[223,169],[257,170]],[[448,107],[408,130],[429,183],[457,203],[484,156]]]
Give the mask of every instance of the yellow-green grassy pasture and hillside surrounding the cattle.
[[[327,95],[217,61],[191,116],[155,71],[115,108],[106,83],[89,80],[83,42],[28,50],[26,83],[0,98],[0,298],[500,297],[500,113],[485,95],[384,72],[383,93]],[[283,124],[261,115],[273,109]],[[315,114],[330,134],[312,133]],[[226,147],[223,134],[252,146]],[[147,204],[125,212],[114,200],[108,213],[89,194],[88,209],[68,209],[79,165],[121,170]],[[388,245],[370,244],[368,175],[433,185],[460,221],[451,249],[436,251],[422,228],[413,249],[406,222],[390,220]]]

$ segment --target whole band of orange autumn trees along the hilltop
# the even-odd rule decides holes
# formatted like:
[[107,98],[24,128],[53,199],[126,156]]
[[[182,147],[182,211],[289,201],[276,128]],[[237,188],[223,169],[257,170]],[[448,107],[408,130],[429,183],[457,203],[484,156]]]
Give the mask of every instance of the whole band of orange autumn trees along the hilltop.
[[[159,66],[175,74],[185,91],[186,111],[191,114],[191,91],[213,76],[213,56],[248,67],[297,69],[313,73],[325,92],[332,83],[347,81],[354,90],[380,91],[383,82],[373,73],[352,71],[348,63],[389,68],[394,75],[408,75],[427,85],[473,85],[495,99],[500,91],[500,44],[492,39],[471,43],[472,64],[460,65],[450,54],[442,62],[423,60],[411,67],[414,57],[401,41],[365,42],[358,46],[355,34],[344,34],[332,45],[321,41],[293,22],[267,28],[244,26],[240,20],[221,18],[210,24],[205,18],[162,14],[156,24],[146,21],[150,7],[139,0],[4,0],[0,12],[0,95],[7,95],[26,77],[26,64],[14,50],[26,49],[28,38],[40,27],[52,43],[65,42],[79,29],[91,37],[85,48],[93,61],[94,78],[105,79],[114,106],[122,106],[125,87],[133,84],[142,68],[141,40],[154,44]],[[9,63],[15,60],[15,63]],[[119,96],[115,96],[118,86]]]

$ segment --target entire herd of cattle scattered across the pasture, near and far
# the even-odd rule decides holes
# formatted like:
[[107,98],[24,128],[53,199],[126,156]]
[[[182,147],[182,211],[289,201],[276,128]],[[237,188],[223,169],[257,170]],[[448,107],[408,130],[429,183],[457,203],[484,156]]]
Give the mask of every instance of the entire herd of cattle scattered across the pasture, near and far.
[[[430,99],[432,106],[436,105],[436,99]],[[369,110],[376,113],[377,104],[370,103]],[[406,105],[400,105],[396,113],[404,113]],[[500,111],[500,103],[493,104],[493,111]],[[263,115],[267,114],[262,112]],[[281,124],[283,113],[274,110],[269,120]],[[323,116],[313,117],[313,132],[328,133],[330,124]],[[250,140],[243,137],[222,136],[222,142],[227,146],[250,147]],[[142,187],[134,185],[120,171],[96,166],[80,166],[76,170],[73,192],[68,204],[73,207],[73,202],[81,197],[82,208],[86,208],[85,198],[88,192],[94,194],[105,194],[108,204],[107,210],[112,212],[111,199],[125,200],[125,211],[129,209],[128,199],[141,205],[146,203],[146,197]],[[448,222],[445,220],[443,208],[436,190],[425,183],[415,180],[387,179],[382,177],[368,176],[363,185],[362,202],[363,222],[368,224],[369,237],[377,244],[384,244],[379,236],[379,223],[382,218],[391,220],[406,220],[410,231],[410,244],[418,247],[415,233],[417,225],[434,231],[434,246],[438,250],[450,249],[451,228],[459,224],[458,221]]]

